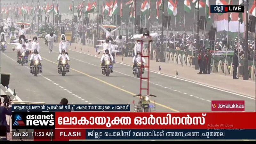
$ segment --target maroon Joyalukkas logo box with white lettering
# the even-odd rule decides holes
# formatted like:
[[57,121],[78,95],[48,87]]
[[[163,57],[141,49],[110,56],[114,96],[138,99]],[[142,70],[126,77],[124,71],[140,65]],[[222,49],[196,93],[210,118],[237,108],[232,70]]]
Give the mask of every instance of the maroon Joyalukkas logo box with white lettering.
[[212,100],[212,111],[244,111],[244,100]]

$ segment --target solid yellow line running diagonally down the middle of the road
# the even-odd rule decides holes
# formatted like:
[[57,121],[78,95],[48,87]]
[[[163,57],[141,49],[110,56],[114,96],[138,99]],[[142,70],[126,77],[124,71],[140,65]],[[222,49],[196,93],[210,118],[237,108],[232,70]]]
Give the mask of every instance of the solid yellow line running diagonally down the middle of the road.
[[[53,62],[53,61],[51,61],[51,60],[48,60],[48,59],[46,59],[46,58],[44,58],[44,57],[42,57],[42,59],[47,60],[47,61],[52,62],[52,63],[55,63],[55,64],[58,64],[58,63]],[[102,82],[102,83],[104,83],[104,84],[107,84],[107,85],[109,85],[109,86],[112,86],[112,87],[114,87],[114,88],[116,88],[116,89],[118,89],[118,90],[121,90],[121,91],[123,91],[123,92],[129,93],[129,94],[131,94],[131,95],[136,95],[135,93],[126,91],[126,90],[124,90],[124,89],[122,89],[122,88],[120,88],[120,87],[117,87],[117,86],[113,85],[113,84],[109,84],[108,82],[103,81],[103,80],[101,80],[101,79],[99,79],[99,78],[97,78],[97,77],[88,75],[88,74],[86,74],[86,73],[84,73],[84,72],[81,72],[81,71],[79,71],[79,70],[76,70],[76,69],[74,69],[74,68],[70,68],[70,69],[72,69],[72,70],[74,70],[74,71],[76,71],[76,72],[78,72],[78,73],[80,73],[80,74],[83,74],[83,75],[85,75],[85,76],[88,76],[88,77],[91,77],[91,78],[93,78],[93,79],[96,79],[96,80],[98,80],[98,81],[100,81],[100,82]],[[154,103],[154,101],[152,101],[152,100],[150,100],[150,102]],[[155,102],[155,103],[156,103],[156,105],[159,105],[159,106],[161,106],[161,107],[164,107],[164,108],[170,109],[170,110],[172,110],[172,111],[178,112],[178,110],[176,110],[176,109],[167,107],[167,106],[162,105],[162,104],[157,103],[157,102]],[[89,104],[90,104],[90,103],[89,103]]]

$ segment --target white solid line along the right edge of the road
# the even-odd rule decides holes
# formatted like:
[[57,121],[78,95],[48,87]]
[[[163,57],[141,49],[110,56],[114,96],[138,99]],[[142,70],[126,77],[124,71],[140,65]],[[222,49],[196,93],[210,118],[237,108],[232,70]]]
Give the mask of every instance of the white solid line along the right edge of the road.
[[[57,46],[57,45],[54,45],[54,46]],[[73,51],[73,52],[78,52],[78,51],[75,51],[75,50],[72,50],[72,49],[68,49],[68,50]],[[93,57],[96,57],[96,58],[100,58],[100,57],[97,57],[97,56],[89,54],[89,53],[84,53],[84,52],[78,52],[78,53],[82,53],[82,54],[85,54],[85,55],[89,55],[89,56],[93,56]],[[127,64],[124,64],[124,63],[121,63],[121,62],[116,62],[116,63],[132,67],[130,65],[127,65]],[[193,84],[198,84],[198,85],[205,86],[205,87],[208,87],[208,88],[211,88],[211,89],[214,89],[214,90],[235,94],[235,95],[238,95],[238,96],[241,96],[241,97],[245,97],[245,98],[248,98],[248,99],[256,100],[255,98],[252,98],[250,96],[245,96],[245,95],[242,95],[242,94],[239,94],[239,93],[230,92],[230,91],[223,90],[223,89],[220,89],[220,88],[217,88],[217,87],[209,86],[209,85],[206,85],[206,84],[201,84],[201,83],[198,83],[198,82],[195,82],[195,81],[192,81],[192,80],[186,80],[186,79],[178,78],[178,77],[175,77],[175,76],[170,76],[170,75],[167,75],[167,74],[158,73],[158,72],[152,71],[152,70],[150,70],[150,72],[158,74],[158,75],[172,77],[172,78],[179,79],[179,80],[182,80],[182,81],[190,82],[190,83],[193,83]]]

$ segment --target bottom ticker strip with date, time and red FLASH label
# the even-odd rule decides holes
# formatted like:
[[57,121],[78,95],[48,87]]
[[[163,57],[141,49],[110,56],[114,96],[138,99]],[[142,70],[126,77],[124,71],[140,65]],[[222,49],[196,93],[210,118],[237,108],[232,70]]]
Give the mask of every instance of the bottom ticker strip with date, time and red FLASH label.
[[21,129],[12,132],[12,140],[255,140],[255,133],[256,129]]

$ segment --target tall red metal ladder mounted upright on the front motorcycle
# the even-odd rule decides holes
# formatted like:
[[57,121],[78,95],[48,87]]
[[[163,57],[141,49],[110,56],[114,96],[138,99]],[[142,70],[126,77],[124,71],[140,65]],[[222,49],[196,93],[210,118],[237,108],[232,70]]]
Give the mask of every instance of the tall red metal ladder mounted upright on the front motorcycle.
[[[142,58],[148,58],[148,64],[147,66],[142,67],[140,65],[140,95],[142,95],[142,90],[147,90],[147,95],[149,95],[149,63],[150,63],[150,49],[151,49],[151,42],[148,42],[148,55],[144,56],[143,55],[143,41],[140,41],[140,54],[141,54],[141,59],[140,62],[142,63]],[[148,75],[147,77],[142,77],[142,68],[148,68]],[[145,71],[145,69],[144,69]],[[142,88],[142,80],[146,79],[147,80],[147,88]]]

